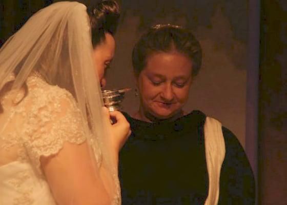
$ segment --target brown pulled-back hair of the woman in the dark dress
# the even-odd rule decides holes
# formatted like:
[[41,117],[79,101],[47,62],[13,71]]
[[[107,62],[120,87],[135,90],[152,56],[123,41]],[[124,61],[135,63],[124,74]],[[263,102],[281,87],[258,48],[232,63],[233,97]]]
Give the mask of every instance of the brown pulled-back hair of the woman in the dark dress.
[[151,27],[136,43],[132,54],[135,76],[146,67],[149,56],[172,51],[186,55],[192,62],[192,76],[198,74],[202,58],[199,42],[188,29],[166,24]]

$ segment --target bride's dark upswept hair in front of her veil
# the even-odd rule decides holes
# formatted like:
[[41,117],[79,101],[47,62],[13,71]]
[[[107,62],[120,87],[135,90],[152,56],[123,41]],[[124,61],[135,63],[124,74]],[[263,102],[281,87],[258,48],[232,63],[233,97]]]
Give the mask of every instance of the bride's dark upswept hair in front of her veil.
[[118,25],[119,6],[114,0],[101,0],[87,8],[90,17],[92,43],[95,48],[102,40],[105,33],[114,35]]

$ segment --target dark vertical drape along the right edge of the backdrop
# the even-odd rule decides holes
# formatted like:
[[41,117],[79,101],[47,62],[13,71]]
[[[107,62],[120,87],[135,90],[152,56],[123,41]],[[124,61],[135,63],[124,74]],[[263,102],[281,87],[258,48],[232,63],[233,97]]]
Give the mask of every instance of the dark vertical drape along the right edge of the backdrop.
[[261,0],[259,204],[287,204],[287,1]]

